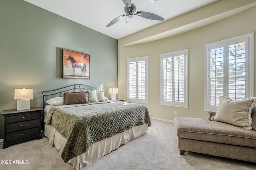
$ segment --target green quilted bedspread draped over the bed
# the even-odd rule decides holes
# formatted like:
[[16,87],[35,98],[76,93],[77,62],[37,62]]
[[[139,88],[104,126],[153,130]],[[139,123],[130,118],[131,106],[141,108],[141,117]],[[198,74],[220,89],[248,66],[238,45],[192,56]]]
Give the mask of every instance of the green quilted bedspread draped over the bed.
[[148,108],[126,102],[100,102],[52,107],[46,125],[67,139],[61,152],[64,162],[86,152],[94,143],[147,123]]

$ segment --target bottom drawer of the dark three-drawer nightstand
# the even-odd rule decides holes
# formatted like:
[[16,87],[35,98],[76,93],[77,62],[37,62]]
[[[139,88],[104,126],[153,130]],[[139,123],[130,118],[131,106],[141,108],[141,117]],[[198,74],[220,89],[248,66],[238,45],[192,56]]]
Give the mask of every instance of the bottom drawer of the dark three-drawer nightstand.
[[16,131],[16,132],[12,132],[12,133],[6,133],[5,141],[6,142],[16,141],[19,139],[25,139],[25,138],[36,136],[39,134],[40,134],[40,127],[35,127],[32,129],[26,129],[26,130]]

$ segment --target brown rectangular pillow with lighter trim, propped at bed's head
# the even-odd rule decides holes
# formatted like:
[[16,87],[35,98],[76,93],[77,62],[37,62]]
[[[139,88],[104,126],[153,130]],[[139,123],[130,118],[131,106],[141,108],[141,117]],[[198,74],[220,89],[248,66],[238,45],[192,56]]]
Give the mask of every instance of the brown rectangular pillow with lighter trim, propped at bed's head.
[[63,94],[63,105],[90,103],[88,92],[68,92]]

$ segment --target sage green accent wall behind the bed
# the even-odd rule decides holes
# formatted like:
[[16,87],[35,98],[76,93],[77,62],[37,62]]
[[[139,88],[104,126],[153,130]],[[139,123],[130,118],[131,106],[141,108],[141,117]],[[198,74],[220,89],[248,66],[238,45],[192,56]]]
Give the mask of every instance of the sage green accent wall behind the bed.
[[[90,79],[62,78],[62,49],[90,54]],[[42,90],[71,84],[103,86],[110,97],[117,60],[116,39],[23,0],[0,1],[0,113],[16,109],[15,88],[33,88],[31,107],[42,107]]]

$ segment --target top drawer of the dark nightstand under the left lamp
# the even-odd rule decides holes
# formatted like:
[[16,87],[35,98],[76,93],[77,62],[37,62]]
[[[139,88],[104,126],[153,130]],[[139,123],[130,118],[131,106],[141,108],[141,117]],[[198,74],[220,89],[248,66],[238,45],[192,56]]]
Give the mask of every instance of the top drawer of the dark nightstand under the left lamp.
[[14,123],[14,122],[19,122],[19,121],[27,121],[27,120],[32,120],[32,119],[38,119],[40,117],[41,117],[40,116],[40,112],[23,114],[23,115],[8,116],[8,117],[6,117],[6,123]]

